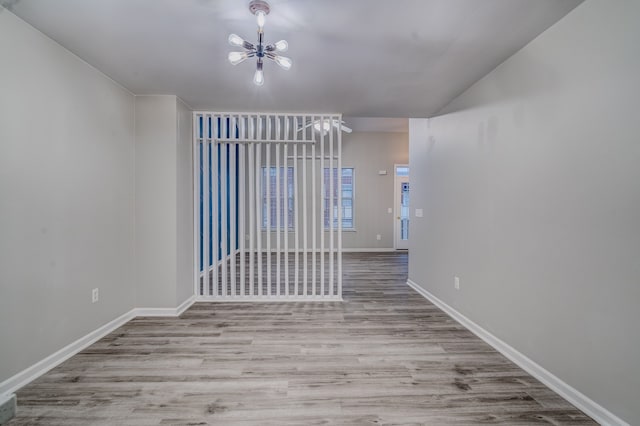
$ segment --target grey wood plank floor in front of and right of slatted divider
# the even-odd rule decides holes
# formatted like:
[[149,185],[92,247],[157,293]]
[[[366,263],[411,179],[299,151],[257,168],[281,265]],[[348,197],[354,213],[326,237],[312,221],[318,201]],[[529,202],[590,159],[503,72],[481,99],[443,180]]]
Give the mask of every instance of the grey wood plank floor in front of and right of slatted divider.
[[590,425],[405,282],[345,254],[344,299],[138,318],[18,393],[15,425]]

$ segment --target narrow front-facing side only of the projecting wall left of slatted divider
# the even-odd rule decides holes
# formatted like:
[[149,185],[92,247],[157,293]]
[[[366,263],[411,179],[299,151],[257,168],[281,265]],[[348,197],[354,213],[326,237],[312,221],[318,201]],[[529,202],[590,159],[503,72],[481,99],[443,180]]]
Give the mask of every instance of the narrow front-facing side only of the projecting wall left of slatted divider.
[[176,298],[176,98],[136,96],[137,304]]

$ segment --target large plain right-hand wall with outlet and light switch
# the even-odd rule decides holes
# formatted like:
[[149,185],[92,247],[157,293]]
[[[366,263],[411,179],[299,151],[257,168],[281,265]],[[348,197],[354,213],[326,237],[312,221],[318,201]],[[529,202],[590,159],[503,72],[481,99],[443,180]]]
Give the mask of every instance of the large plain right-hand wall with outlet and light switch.
[[640,2],[586,1],[410,144],[410,279],[631,424],[639,19]]

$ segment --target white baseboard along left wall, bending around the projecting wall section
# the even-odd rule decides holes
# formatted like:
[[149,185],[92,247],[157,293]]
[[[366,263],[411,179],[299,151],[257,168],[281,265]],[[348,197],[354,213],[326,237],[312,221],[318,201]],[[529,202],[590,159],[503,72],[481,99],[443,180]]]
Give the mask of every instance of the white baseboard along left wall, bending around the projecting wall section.
[[90,332],[89,334],[79,338],[73,343],[65,346],[59,351],[49,355],[45,359],[35,363],[31,367],[28,367],[13,377],[8,378],[4,382],[0,383],[0,399],[8,397],[8,395],[15,393],[21,387],[29,384],[33,380],[45,374],[52,368],[60,365],[67,359],[71,358],[83,349],[91,346],[104,336],[108,335],[117,328],[123,326],[130,320],[136,317],[177,317],[184,311],[189,309],[191,305],[196,301],[196,296],[191,296],[185,300],[177,308],[134,308],[129,312],[120,315],[118,318],[109,321],[102,327]]

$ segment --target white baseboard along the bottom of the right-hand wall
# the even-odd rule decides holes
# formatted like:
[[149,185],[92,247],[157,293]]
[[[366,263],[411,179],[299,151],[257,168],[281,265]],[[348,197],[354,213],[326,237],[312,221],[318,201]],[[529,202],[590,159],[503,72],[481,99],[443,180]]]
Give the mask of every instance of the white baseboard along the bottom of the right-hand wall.
[[447,305],[442,300],[438,299],[436,296],[431,294],[429,291],[420,287],[418,284],[411,280],[407,280],[407,284],[409,287],[413,288],[417,291],[422,297],[429,300],[431,303],[436,305],[442,311],[444,311],[447,315],[452,317],[454,320],[462,324],[466,329],[471,331],[473,334],[484,340],[487,344],[492,346],[495,350],[500,352],[502,355],[507,357],[513,363],[518,365],[527,373],[531,374],[536,379],[540,380],[551,390],[556,392],[558,395],[575,405],[578,409],[582,410],[585,414],[590,416],[596,422],[601,425],[606,426],[629,426],[627,422],[590,399],[574,387],[562,381],[560,378],[546,370],[541,365],[537,364],[530,358],[528,358],[525,354],[519,352],[513,347],[509,346],[509,344],[500,340],[498,337],[491,334],[489,331],[485,330],[469,318],[462,315],[460,312]]

